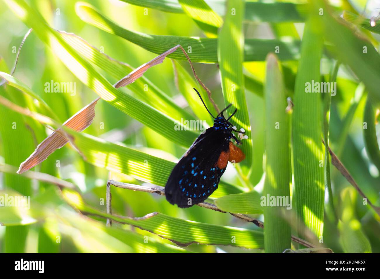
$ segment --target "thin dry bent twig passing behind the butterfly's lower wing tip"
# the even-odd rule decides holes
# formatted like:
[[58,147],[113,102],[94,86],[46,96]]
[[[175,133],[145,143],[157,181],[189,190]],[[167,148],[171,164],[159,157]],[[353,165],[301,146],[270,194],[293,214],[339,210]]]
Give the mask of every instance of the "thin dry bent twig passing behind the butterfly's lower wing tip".
[[[145,185],[136,185],[136,184],[130,184],[130,183],[123,183],[123,182],[119,182],[119,181],[115,181],[115,180],[108,180],[107,187],[109,185],[114,185],[114,186],[116,186],[118,188],[130,189],[130,190],[134,190],[134,191],[140,191],[140,192],[146,192],[146,193],[156,193],[158,195],[163,195],[163,196],[165,195],[165,188],[161,187],[161,186],[157,186],[157,185],[145,186]],[[108,193],[108,188],[107,188],[107,193]],[[107,202],[107,205],[108,205],[108,202]],[[109,203],[109,205],[111,206],[111,202]],[[219,208],[217,208],[217,206],[215,206],[214,204],[208,203],[208,202],[201,202],[201,203],[198,203],[197,205],[201,206],[201,207],[204,207],[204,208],[208,208],[208,209],[214,210],[214,211],[218,211],[218,212],[221,212],[221,213],[230,213],[232,216],[234,216],[236,218],[239,218],[239,219],[241,219],[243,221],[246,221],[246,222],[251,222],[251,223],[255,224],[256,226],[258,226],[260,228],[264,228],[264,223],[263,222],[261,222],[258,219],[255,219],[255,218],[252,218],[250,216],[247,216],[245,214],[231,213],[231,212],[223,211],[223,210],[220,210]],[[108,210],[108,208],[107,208],[107,210]],[[312,244],[312,243],[310,243],[310,242],[308,242],[306,240],[303,240],[301,238],[298,238],[298,237],[296,237],[294,235],[291,236],[291,239],[294,242],[297,242],[297,243],[302,244],[302,245],[304,245],[306,247],[309,247],[309,248],[316,247],[314,244]]]

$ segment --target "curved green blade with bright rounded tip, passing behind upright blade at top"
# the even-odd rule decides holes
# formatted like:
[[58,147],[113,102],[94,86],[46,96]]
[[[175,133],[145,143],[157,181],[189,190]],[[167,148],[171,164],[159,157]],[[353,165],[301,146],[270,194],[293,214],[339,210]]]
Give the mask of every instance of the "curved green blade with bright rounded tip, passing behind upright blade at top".
[[[183,37],[183,36],[163,36],[147,35],[140,32],[133,32],[120,27],[112,22],[92,6],[78,3],[76,13],[88,24],[91,24],[108,33],[115,34],[121,38],[127,39],[131,43],[156,53],[161,54],[168,49],[180,44],[187,50],[187,54],[192,62],[217,63],[217,39]],[[275,47],[280,47],[279,58],[281,60],[294,60],[299,57],[298,40],[268,40],[268,39],[245,39],[244,61],[262,61],[265,60],[268,52],[273,51]],[[187,60],[183,52],[177,49],[169,58]]]

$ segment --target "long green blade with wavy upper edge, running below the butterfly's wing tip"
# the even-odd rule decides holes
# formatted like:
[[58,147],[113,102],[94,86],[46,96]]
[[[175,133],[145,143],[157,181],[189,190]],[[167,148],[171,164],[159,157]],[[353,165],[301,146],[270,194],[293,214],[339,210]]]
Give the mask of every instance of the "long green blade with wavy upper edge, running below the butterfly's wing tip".
[[174,243],[231,245],[250,249],[263,247],[262,232],[182,220],[157,212],[140,218],[119,217],[86,205],[77,192],[65,189],[63,195],[68,203],[80,211],[139,227]]

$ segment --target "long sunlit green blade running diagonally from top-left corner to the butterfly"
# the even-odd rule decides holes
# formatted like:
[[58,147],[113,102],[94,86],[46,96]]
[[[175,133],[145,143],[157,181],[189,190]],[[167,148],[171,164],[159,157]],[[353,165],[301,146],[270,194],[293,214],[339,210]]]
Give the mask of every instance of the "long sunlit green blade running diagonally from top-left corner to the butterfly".
[[173,118],[167,117],[157,109],[114,88],[100,73],[95,71],[87,60],[70,47],[58,32],[49,27],[41,15],[31,9],[24,0],[7,0],[6,3],[16,15],[35,30],[35,33],[47,46],[51,47],[63,64],[102,99],[174,143],[185,147],[192,144],[197,136],[194,131],[174,129]]

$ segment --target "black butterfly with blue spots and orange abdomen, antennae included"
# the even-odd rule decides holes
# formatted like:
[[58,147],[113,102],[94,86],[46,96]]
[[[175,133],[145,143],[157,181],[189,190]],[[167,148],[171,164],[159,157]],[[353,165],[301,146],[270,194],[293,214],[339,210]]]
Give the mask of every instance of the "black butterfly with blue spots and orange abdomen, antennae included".
[[[193,89],[206,107],[199,92]],[[165,185],[166,199],[171,204],[185,208],[203,202],[218,188],[228,161],[240,162],[244,159],[243,152],[230,140],[233,138],[239,144],[232,131],[243,133],[232,128],[228,122],[237,109],[227,119],[223,116],[223,112],[230,106],[231,104],[217,117],[206,107],[207,112],[214,118],[214,126],[195,140],[172,170]]]

